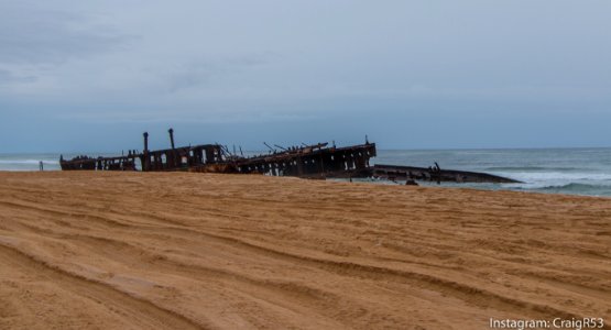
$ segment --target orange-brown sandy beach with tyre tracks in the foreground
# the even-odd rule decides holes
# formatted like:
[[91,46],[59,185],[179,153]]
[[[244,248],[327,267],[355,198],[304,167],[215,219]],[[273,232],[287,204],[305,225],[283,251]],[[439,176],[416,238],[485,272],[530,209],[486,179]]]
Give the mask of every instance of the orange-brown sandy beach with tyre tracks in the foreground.
[[611,323],[611,199],[0,173],[0,329]]

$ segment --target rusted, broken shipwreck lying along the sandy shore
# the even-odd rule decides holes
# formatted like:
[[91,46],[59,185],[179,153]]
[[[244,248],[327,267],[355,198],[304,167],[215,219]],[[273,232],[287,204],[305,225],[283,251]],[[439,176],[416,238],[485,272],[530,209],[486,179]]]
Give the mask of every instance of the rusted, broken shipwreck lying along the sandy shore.
[[170,129],[170,148],[149,150],[149,133],[144,132],[144,148],[129,150],[120,156],[92,157],[79,155],[72,160],[59,157],[62,170],[141,170],[141,172],[200,172],[264,174],[271,176],[294,176],[301,178],[381,178],[406,180],[414,184],[425,182],[454,183],[519,183],[511,178],[485,173],[441,169],[438,164],[430,167],[371,165],[377,156],[375,143],[338,147],[332,143],[283,147],[275,145],[266,154],[244,156],[231,152],[227,146],[199,144],[174,145],[174,130]]

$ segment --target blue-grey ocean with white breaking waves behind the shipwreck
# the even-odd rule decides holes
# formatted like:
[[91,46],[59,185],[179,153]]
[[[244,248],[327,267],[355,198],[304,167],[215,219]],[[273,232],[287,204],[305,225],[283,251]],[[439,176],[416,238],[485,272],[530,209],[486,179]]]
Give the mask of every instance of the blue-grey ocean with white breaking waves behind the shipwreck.
[[[0,154],[0,170],[39,170],[41,161],[45,170],[58,170],[58,158],[59,154],[53,153]],[[611,148],[379,150],[378,157],[372,160],[373,164],[423,167],[434,162],[441,168],[484,172],[523,182],[441,186],[611,196]]]

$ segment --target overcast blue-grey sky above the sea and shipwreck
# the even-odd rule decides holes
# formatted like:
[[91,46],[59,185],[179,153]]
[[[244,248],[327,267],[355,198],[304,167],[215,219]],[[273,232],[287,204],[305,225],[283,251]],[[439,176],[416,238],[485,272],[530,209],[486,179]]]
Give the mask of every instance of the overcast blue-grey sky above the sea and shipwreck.
[[0,153],[611,145],[611,1],[0,0]]

